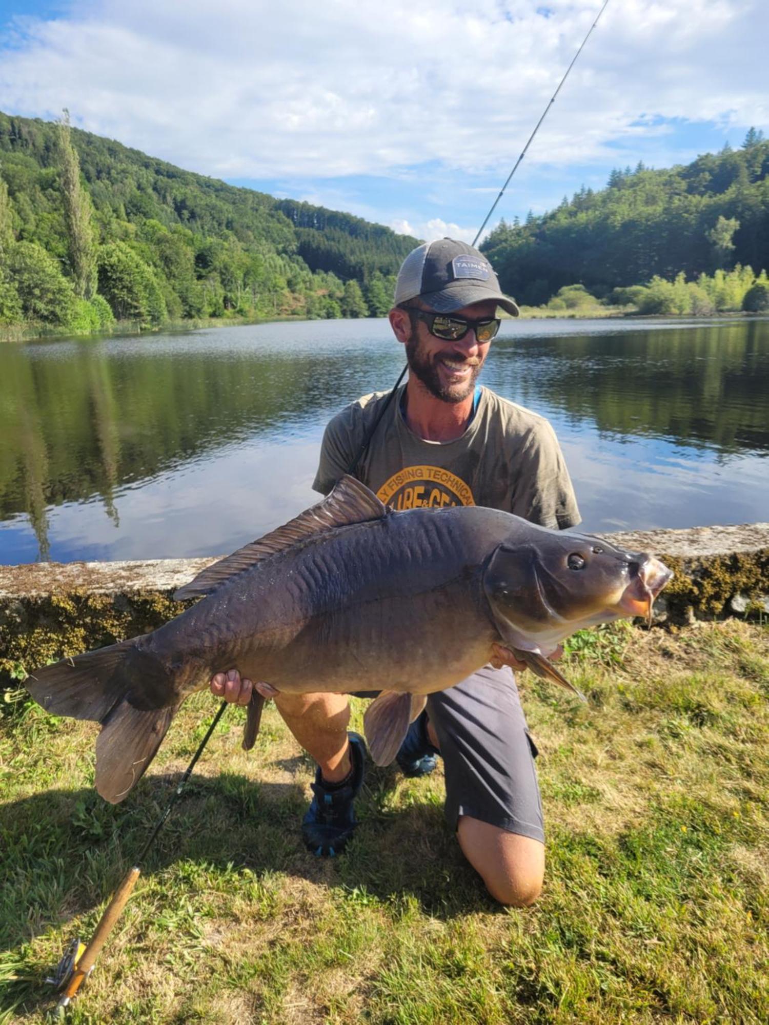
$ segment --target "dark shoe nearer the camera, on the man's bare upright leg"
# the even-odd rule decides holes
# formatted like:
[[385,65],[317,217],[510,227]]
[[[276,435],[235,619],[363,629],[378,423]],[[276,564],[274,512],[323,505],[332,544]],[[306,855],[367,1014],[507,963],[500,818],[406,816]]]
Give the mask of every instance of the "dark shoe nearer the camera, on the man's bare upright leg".
[[357,733],[349,733],[348,738],[353,764],[350,778],[341,786],[334,786],[323,779],[318,768],[312,784],[315,796],[301,820],[301,837],[319,858],[333,858],[343,851],[358,825],[353,802],[363,785],[366,745]]

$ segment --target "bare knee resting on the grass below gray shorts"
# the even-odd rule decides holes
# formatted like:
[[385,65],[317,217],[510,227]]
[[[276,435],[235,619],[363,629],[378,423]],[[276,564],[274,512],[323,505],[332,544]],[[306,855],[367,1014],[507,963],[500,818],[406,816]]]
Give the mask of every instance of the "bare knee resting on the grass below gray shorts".
[[459,818],[462,853],[500,904],[528,907],[542,890],[544,846],[471,816]]

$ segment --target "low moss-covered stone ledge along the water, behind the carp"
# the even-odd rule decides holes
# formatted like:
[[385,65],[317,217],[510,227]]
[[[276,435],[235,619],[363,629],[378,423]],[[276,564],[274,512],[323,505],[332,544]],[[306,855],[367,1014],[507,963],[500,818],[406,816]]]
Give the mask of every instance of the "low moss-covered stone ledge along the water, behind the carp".
[[[597,535],[658,556],[675,576],[655,605],[670,623],[761,611],[769,524]],[[0,566],[0,687],[65,655],[157,629],[191,602],[173,591],[217,558]]]

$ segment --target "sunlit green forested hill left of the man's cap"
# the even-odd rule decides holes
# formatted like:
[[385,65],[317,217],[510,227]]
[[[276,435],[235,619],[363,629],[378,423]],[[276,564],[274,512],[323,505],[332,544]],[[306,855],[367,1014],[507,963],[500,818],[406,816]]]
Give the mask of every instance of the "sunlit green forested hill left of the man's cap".
[[380,316],[417,244],[0,113],[0,324]]

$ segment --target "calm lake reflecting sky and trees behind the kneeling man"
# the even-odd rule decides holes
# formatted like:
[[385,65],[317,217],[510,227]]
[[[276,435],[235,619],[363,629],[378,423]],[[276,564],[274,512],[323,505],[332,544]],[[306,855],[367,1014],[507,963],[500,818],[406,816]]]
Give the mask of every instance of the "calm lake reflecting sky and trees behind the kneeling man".
[[[253,540],[403,359],[386,320],[0,345],[0,563]],[[481,381],[551,420],[586,530],[769,519],[769,320],[504,321]]]

